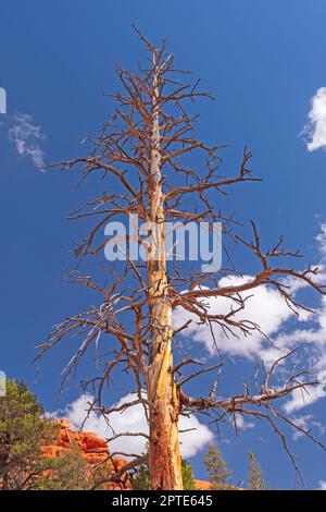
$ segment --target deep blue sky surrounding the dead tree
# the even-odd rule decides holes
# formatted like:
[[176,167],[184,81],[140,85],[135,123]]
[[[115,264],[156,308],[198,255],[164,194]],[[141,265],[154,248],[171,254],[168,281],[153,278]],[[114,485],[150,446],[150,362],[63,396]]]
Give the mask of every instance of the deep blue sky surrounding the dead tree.
[[[72,242],[84,232],[66,216],[98,184],[76,190],[73,173],[36,171],[33,159],[40,155],[26,148],[18,155],[14,126],[40,127],[34,146],[46,163],[77,156],[79,142],[110,110],[101,93],[117,87],[113,61],[133,68],[143,54],[131,31],[136,23],[153,41],[166,37],[177,65],[193,71],[215,96],[214,103],[200,106],[202,138],[234,144],[230,167],[244,144],[254,151],[252,167],[264,181],[237,190],[229,209],[244,221],[255,219],[267,241],[284,234],[289,247],[319,261],[315,236],[326,219],[326,157],[323,149],[309,151],[300,133],[312,98],[326,86],[325,17],[323,0],[167,0],[156,12],[148,0],[12,0],[1,7],[0,86],[8,93],[8,114],[0,117],[0,369],[25,380],[47,410],[63,409],[80,394],[82,370],[55,402],[71,346],[50,354],[37,381],[30,361],[53,324],[89,304],[89,295],[63,279],[72,267]],[[244,358],[241,371],[248,366]],[[237,368],[230,367],[227,382],[241,385]],[[86,364],[82,369],[89,370]],[[120,398],[114,390],[109,397]],[[324,400],[300,414],[324,425]],[[273,487],[293,485],[290,463],[266,427],[244,429],[239,438],[225,430],[220,446],[236,481],[246,478],[246,454],[253,451]],[[292,446],[306,486],[316,488],[326,480],[325,454],[301,438]],[[204,477],[202,452],[191,461]]]

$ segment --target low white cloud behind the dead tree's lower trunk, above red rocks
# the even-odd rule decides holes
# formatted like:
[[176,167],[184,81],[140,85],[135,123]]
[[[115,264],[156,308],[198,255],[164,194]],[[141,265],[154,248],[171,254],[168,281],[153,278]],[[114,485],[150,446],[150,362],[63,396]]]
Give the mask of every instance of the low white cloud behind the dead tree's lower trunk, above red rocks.
[[[122,405],[126,402],[136,400],[136,394],[127,394],[115,405]],[[92,402],[90,394],[83,394],[73,403],[66,406],[64,411],[54,413],[54,416],[67,418],[74,429],[79,429],[86,417],[88,403]],[[148,434],[148,425],[142,405],[134,405],[125,412],[112,413],[109,416],[110,425],[101,414],[91,413],[84,425],[84,430],[95,431],[99,437],[108,439],[114,434],[121,432],[143,432]],[[180,416],[179,429],[188,430],[180,434],[181,455],[190,458],[196,455],[205,444],[213,440],[213,434],[193,415],[190,417]],[[147,439],[143,437],[121,437],[110,442],[110,451],[140,454],[146,449]]]

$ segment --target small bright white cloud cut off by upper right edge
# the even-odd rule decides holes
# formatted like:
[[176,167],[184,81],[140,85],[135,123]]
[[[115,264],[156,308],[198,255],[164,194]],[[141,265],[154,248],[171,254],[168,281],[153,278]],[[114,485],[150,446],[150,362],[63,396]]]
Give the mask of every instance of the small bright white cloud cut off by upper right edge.
[[303,133],[308,135],[306,148],[315,151],[326,147],[326,87],[321,87],[311,100],[309,124]]

